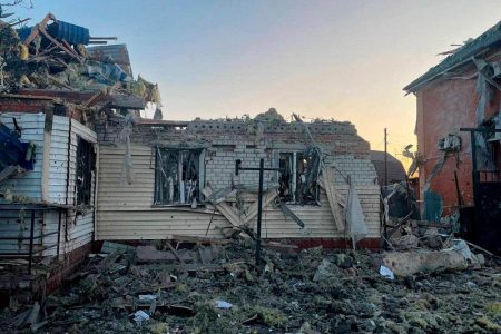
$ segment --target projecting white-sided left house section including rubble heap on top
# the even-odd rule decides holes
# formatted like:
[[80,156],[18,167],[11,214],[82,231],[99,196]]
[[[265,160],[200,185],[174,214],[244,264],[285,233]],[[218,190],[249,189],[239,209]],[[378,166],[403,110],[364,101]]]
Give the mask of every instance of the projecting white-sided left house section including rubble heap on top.
[[[95,239],[95,119],[138,115],[159,104],[158,87],[134,79],[125,45],[87,51],[109,38],[52,14],[28,28],[0,22],[0,37],[1,257],[20,258],[28,273],[43,258],[71,267]],[[60,281],[50,274],[49,285]],[[17,278],[3,277],[2,288]]]

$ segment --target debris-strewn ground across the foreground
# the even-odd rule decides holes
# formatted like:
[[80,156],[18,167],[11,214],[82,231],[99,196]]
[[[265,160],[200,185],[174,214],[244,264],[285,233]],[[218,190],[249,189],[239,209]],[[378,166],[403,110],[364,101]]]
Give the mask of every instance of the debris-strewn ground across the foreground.
[[482,268],[392,281],[380,275],[377,254],[292,250],[264,249],[262,275],[252,265],[254,249],[247,242],[191,249],[181,245],[177,250],[158,243],[153,249],[91,255],[71,284],[40,305],[4,310],[1,328],[27,333],[501,332],[500,263],[492,258]]

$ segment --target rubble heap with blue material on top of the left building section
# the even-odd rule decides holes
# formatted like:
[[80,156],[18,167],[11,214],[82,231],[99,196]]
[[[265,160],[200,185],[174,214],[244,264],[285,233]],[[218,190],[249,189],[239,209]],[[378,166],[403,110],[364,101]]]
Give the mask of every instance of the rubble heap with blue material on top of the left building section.
[[[87,28],[60,21],[51,13],[33,27],[14,29],[0,21],[0,91],[112,89],[117,94],[141,97],[146,102],[160,104],[158,85],[140,76],[135,79],[129,65],[119,65],[118,59],[87,49],[89,43],[106,43],[108,39],[116,38],[92,40]],[[120,51],[127,52],[126,49]]]

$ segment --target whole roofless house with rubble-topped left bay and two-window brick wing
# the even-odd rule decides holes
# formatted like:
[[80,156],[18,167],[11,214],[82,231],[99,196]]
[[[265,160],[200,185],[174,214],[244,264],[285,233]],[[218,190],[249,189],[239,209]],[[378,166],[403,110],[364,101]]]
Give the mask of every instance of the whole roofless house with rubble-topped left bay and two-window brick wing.
[[[94,242],[255,239],[259,174],[245,168],[261,159],[274,169],[264,239],[380,248],[377,177],[352,124],[285,121],[273,108],[163,120],[158,86],[132,77],[125,45],[89,47],[109,38],[52,14],[0,28],[0,255],[16,258],[2,291],[53,288]],[[148,102],[155,119],[140,117]]]

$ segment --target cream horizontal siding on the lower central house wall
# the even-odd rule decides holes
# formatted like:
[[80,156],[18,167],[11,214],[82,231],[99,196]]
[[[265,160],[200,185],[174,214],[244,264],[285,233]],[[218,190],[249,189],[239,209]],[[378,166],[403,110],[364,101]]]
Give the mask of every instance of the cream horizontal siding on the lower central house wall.
[[[155,170],[150,168],[151,148],[132,145],[134,183],[121,178],[125,147],[100,145],[99,189],[97,206],[97,239],[163,239],[173,235],[205,236],[212,212],[189,208],[155,208]],[[154,161],[151,161],[154,163]],[[234,168],[234,167],[232,167]],[[207,174],[207,178],[210,178]],[[347,186],[337,186],[344,196]],[[379,237],[379,187],[357,185],[358,197],[366,216],[369,237]],[[268,238],[336,238],[336,230],[325,193],[321,206],[289,206],[305,222],[301,229],[276,208],[267,207],[263,216],[263,236]],[[256,219],[252,224],[255,223]],[[222,237],[217,227],[229,223],[216,214],[208,237]]]

